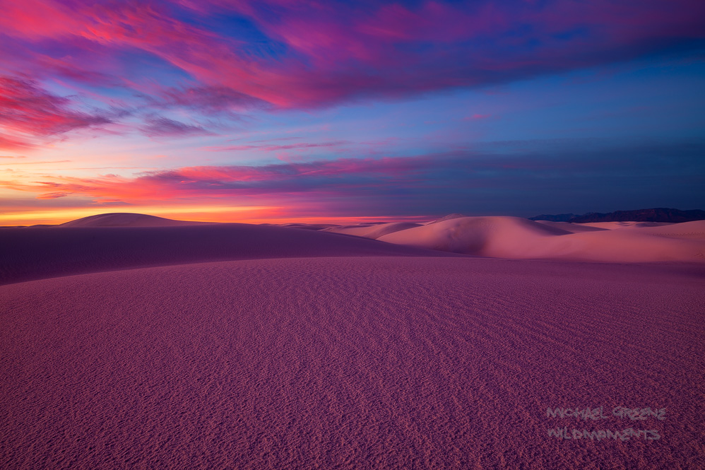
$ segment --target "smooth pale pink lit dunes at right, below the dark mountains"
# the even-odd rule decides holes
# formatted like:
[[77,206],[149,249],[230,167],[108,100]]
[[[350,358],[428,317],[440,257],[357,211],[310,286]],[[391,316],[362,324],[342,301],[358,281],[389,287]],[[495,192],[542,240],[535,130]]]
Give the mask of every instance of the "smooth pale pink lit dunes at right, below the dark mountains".
[[[685,231],[701,230],[701,221]],[[682,225],[682,224],[675,224]],[[483,257],[596,262],[705,262],[705,237],[677,240],[674,225],[571,233],[516,217],[463,217],[401,230],[378,240]],[[660,233],[663,230],[663,235]]]

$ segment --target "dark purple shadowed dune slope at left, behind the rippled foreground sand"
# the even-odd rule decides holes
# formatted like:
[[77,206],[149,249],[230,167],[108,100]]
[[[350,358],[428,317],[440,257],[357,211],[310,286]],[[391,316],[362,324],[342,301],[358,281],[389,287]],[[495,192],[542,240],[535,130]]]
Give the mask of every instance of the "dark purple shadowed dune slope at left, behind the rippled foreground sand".
[[439,253],[336,233],[244,223],[2,228],[0,284],[143,266],[336,256]]

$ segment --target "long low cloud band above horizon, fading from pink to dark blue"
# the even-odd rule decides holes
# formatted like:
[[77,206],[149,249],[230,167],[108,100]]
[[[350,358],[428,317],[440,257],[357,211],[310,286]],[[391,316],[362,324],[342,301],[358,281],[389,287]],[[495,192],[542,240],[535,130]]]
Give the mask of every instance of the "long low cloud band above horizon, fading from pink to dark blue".
[[[503,150],[521,145],[523,153]],[[571,150],[569,150],[571,149]],[[703,143],[680,146],[591,148],[559,143],[499,143],[494,151],[456,151],[406,158],[339,158],[271,165],[191,166],[141,172],[133,177],[37,178],[2,181],[1,187],[32,192],[41,199],[90,197],[128,204],[172,201],[256,200],[296,213],[297,206],[319,215],[341,216],[458,212],[497,213],[552,207],[564,194],[591,195],[581,204],[632,206],[658,192],[676,201],[705,194]],[[595,189],[599,188],[599,194]],[[611,201],[611,202],[610,202]],[[678,205],[678,204],[675,204]],[[582,210],[583,207],[576,207]],[[357,212],[355,212],[357,211]],[[529,215],[529,214],[526,214]]]

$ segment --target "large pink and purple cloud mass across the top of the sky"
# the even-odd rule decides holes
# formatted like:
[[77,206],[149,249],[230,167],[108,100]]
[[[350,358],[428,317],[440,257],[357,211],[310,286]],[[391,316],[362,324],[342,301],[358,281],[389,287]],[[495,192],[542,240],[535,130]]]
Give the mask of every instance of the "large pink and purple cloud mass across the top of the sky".
[[[229,16],[255,33],[209,26]],[[0,73],[10,81],[30,74],[35,82],[20,93],[37,100],[0,123],[10,128],[0,144],[26,148],[32,136],[100,123],[40,90],[49,79],[143,119],[167,107],[237,119],[253,107],[393,99],[633,59],[702,40],[703,18],[696,0],[5,0]],[[25,119],[32,114],[37,119]]]

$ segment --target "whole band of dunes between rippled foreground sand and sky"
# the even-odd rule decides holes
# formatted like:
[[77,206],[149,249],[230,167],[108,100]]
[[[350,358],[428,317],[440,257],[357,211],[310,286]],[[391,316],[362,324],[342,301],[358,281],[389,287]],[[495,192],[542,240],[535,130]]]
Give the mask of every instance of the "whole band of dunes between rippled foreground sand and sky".
[[705,221],[579,224],[451,214],[425,224],[297,223],[282,227],[110,213],[49,227],[3,228],[0,283],[236,259],[450,254],[591,262],[705,262]]

